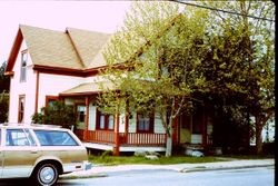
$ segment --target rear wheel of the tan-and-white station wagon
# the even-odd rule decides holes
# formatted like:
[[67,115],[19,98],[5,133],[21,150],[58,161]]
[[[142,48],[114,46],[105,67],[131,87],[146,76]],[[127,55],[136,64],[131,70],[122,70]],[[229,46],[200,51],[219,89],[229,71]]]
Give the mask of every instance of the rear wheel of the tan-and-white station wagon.
[[40,186],[52,186],[57,183],[58,177],[58,169],[52,164],[42,164],[33,174],[36,184]]

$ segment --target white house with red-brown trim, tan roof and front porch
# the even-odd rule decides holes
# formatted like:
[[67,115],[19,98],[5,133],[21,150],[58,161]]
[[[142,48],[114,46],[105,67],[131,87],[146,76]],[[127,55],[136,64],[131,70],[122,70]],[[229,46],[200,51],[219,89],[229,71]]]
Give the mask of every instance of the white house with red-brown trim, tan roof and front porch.
[[[110,37],[73,28],[54,31],[19,26],[6,69],[11,82],[9,123],[31,123],[34,112],[60,99],[75,106],[76,134],[88,148],[115,154],[165,151],[166,131],[159,117],[111,116],[98,110],[100,82],[111,86],[99,74],[106,67],[101,51]],[[180,116],[173,143],[211,143],[212,124],[205,112],[201,108],[195,116]]]

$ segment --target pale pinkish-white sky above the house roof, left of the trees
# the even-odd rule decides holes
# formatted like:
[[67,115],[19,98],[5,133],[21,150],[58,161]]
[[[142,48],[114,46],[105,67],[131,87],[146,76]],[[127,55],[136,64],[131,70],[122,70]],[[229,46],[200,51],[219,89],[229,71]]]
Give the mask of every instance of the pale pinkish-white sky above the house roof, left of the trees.
[[9,57],[19,25],[64,31],[67,27],[112,33],[131,1],[0,0],[0,65]]

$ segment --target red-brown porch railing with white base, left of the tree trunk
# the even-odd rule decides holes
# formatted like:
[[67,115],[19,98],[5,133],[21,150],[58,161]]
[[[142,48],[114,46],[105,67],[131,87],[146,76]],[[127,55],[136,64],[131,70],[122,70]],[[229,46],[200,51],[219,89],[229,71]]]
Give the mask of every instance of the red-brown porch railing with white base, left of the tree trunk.
[[166,134],[115,133],[108,130],[75,130],[87,148],[119,151],[165,151]]

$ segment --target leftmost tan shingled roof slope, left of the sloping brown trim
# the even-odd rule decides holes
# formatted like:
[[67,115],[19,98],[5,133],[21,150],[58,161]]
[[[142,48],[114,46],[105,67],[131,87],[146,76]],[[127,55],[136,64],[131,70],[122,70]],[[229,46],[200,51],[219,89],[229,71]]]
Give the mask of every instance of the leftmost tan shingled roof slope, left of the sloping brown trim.
[[69,36],[61,31],[20,26],[33,65],[82,69]]

